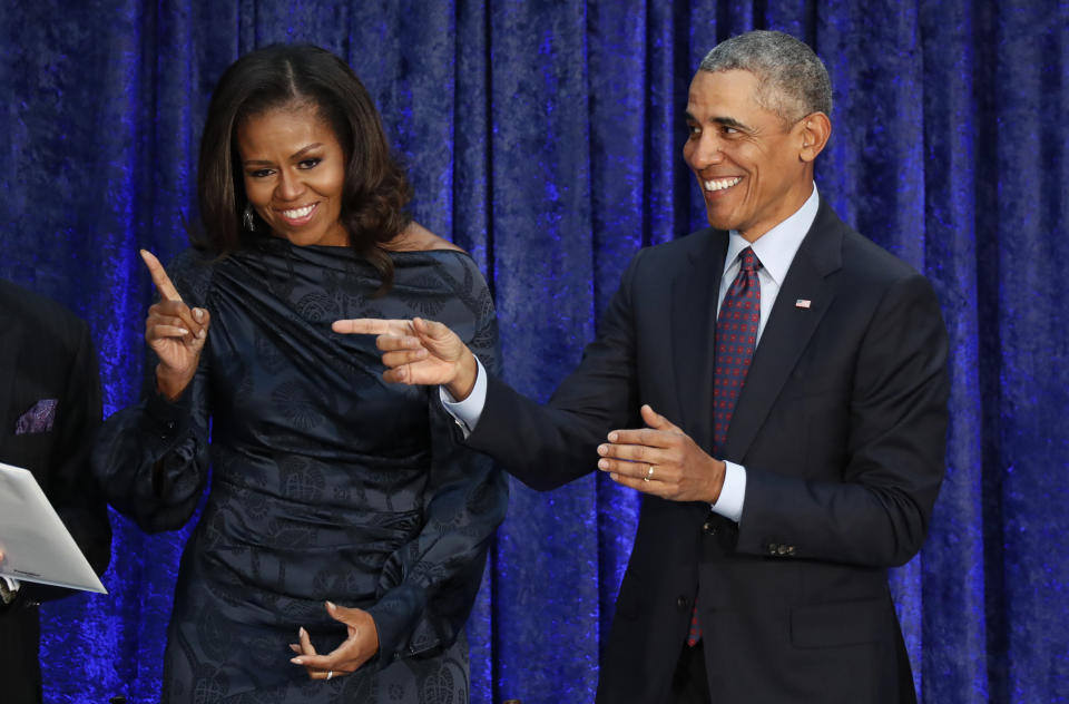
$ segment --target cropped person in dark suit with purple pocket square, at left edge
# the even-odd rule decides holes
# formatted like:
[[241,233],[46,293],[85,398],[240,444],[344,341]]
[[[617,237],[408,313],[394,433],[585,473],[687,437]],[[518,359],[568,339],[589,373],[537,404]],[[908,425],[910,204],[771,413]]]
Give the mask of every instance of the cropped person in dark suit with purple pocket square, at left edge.
[[[111,527],[88,463],[100,423],[89,329],[60,305],[0,281],[0,462],[33,472],[89,564],[102,574],[111,556]],[[0,700],[38,704],[37,607],[71,591],[0,580]]]

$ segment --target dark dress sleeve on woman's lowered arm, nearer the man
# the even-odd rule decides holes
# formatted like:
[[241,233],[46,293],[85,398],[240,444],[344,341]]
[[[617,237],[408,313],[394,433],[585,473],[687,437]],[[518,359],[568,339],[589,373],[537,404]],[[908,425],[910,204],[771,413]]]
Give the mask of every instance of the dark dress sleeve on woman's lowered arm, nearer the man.
[[[465,268],[472,285],[460,296],[475,322],[462,336],[497,373],[493,302],[474,263],[467,261]],[[429,391],[432,459],[424,525],[388,560],[379,602],[369,609],[379,630],[379,667],[455,641],[479,591],[491,537],[508,507],[504,475],[490,458],[460,442],[455,421],[434,401],[438,390]]]

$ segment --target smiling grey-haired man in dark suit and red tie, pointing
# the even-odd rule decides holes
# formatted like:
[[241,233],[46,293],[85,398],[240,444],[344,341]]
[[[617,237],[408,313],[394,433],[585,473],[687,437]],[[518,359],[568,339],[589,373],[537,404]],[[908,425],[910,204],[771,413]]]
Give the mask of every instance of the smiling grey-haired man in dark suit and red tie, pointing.
[[924,277],[817,194],[830,113],[796,39],[706,56],[684,158],[712,227],[639,252],[546,407],[440,324],[335,323],[380,334],[388,380],[444,384],[526,483],[597,462],[645,493],[599,702],[915,701],[886,571],[943,478],[947,333]]

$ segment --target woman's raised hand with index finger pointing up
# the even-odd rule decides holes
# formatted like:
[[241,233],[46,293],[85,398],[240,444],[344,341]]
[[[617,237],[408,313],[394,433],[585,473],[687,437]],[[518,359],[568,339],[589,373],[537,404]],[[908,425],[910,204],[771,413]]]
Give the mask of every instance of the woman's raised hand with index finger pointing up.
[[148,309],[145,341],[159,358],[156,388],[164,397],[174,400],[182,395],[197,372],[212,316],[204,309],[190,309],[183,303],[163,264],[150,252],[141,250],[141,258],[160,299]]

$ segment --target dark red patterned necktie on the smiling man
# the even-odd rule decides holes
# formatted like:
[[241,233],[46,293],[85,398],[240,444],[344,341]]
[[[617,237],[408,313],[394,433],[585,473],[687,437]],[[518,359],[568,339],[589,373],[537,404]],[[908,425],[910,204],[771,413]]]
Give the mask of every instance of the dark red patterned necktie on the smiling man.
[[[732,422],[735,401],[746,381],[749,361],[757,346],[757,324],[761,322],[761,262],[749,247],[739,253],[743,266],[727,290],[716,319],[716,372],[713,377],[713,453],[724,449],[724,438]],[[690,634],[687,645],[694,647],[702,639],[698,625],[698,605],[690,612]]]

